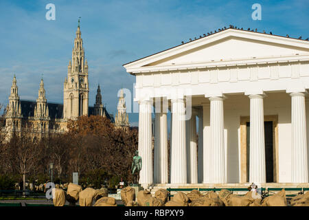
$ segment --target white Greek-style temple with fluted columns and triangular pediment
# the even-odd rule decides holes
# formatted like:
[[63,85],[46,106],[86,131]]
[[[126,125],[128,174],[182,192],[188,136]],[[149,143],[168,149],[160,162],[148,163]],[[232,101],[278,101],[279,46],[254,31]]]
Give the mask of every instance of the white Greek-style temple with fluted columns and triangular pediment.
[[228,28],[124,67],[136,76],[142,186],[308,186],[309,41]]

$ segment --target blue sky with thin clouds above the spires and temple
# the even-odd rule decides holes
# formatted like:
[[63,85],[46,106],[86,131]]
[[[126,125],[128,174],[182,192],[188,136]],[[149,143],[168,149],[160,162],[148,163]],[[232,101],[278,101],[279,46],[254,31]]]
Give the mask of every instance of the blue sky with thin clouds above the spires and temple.
[[[47,21],[45,5],[54,3],[56,20]],[[253,21],[251,5],[260,3],[262,20]],[[16,74],[21,99],[36,100],[44,74],[47,101],[62,103],[63,82],[73,39],[80,28],[89,63],[90,100],[100,83],[109,112],[117,91],[132,91],[135,77],[122,65],[179,45],[215,29],[236,25],[291,37],[309,36],[309,1],[0,1],[0,103],[7,104]],[[137,125],[138,115],[129,115]]]

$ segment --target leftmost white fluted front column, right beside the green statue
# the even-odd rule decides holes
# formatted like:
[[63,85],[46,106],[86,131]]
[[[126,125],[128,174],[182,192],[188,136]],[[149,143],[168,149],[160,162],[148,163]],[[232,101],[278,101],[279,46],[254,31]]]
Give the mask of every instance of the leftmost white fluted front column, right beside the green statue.
[[146,187],[153,182],[151,142],[151,103],[144,100],[139,102],[139,155],[142,159],[139,184]]

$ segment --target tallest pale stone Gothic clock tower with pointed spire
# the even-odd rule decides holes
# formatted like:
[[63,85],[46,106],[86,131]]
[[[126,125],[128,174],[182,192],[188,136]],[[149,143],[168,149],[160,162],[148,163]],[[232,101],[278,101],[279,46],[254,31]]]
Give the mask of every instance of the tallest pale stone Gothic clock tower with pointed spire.
[[82,47],[82,33],[80,32],[80,20],[74,47],[72,60],[67,67],[67,77],[64,83],[63,118],[75,120],[78,116],[88,115],[89,105],[89,82],[88,63],[84,59],[84,47]]

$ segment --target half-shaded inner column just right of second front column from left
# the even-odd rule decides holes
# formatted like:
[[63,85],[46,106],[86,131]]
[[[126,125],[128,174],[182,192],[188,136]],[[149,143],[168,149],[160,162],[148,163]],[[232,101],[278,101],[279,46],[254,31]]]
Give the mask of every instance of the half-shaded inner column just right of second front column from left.
[[196,145],[196,115],[192,112],[191,118],[186,121],[187,132],[187,183],[197,184],[197,145]]

